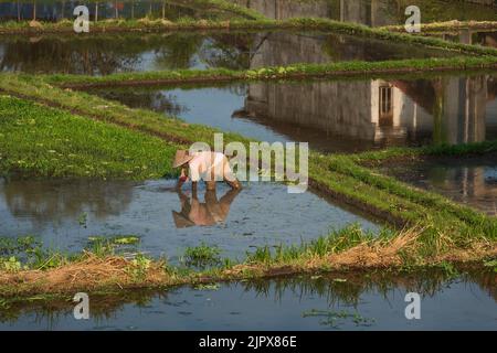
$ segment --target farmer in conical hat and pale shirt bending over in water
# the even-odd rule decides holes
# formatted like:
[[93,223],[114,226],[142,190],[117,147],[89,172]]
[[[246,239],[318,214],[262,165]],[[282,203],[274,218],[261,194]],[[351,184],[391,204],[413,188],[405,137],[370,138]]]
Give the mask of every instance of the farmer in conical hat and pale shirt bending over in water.
[[241,189],[241,183],[233,174],[226,156],[219,152],[203,151],[189,153],[179,150],[176,152],[172,168],[181,168],[181,175],[177,188],[188,181],[192,182],[192,189],[197,190],[197,183],[202,179],[207,183],[207,190],[215,190],[216,181],[224,181],[232,189]]

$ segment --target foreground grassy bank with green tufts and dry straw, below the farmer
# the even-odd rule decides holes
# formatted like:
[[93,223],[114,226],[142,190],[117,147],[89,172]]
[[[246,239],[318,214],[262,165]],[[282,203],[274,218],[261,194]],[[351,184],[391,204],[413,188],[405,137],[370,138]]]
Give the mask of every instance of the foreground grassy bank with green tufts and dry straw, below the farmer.
[[[420,266],[452,268],[450,263],[468,260],[464,252],[450,256],[420,257],[416,239],[421,233],[421,228],[400,234],[383,231],[373,237],[351,226],[300,246],[282,246],[274,250],[258,248],[241,263],[223,260],[214,250],[193,248],[187,250],[189,258],[179,266],[170,266],[166,260],[148,259],[139,254],[133,260],[125,259],[114,254],[112,242],[103,243],[106,245],[105,250],[101,244],[97,253],[64,256],[56,253],[40,255],[40,250],[33,250],[31,244],[25,246],[27,242],[21,240],[21,248],[25,254],[35,254],[31,256],[35,260],[30,261],[28,257],[28,260],[21,261],[9,253],[9,247],[2,247],[7,257],[0,261],[0,295],[3,298],[32,295],[53,297],[80,290],[152,289],[335,270],[413,270]],[[13,245],[18,247],[18,244]],[[472,254],[470,260],[485,260],[496,255],[495,249],[489,252],[482,248],[477,254]],[[192,268],[187,265],[188,261],[201,263],[203,266],[200,269]]]

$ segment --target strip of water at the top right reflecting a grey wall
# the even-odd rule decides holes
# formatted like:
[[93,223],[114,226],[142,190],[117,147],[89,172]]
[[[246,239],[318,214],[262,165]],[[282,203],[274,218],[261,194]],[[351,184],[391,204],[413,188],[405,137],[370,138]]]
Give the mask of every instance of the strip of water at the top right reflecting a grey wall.
[[326,18],[342,22],[361,23],[370,26],[404,24],[405,8],[420,8],[422,22],[493,21],[497,19],[497,8],[491,0],[443,1],[443,0],[236,0],[241,6],[254,9],[271,19]]

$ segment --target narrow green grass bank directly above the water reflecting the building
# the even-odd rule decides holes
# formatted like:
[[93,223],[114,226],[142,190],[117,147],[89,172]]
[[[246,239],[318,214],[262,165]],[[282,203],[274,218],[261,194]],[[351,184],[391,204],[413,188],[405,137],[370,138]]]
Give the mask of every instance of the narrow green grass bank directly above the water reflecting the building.
[[461,72],[497,67],[494,56],[451,58],[400,60],[383,62],[339,62],[330,64],[295,64],[260,69],[232,71],[226,68],[178,69],[160,72],[121,73],[107,76],[41,75],[44,81],[66,88],[108,86],[201,84],[235,81],[277,81],[311,77],[374,77],[380,74],[415,74]]

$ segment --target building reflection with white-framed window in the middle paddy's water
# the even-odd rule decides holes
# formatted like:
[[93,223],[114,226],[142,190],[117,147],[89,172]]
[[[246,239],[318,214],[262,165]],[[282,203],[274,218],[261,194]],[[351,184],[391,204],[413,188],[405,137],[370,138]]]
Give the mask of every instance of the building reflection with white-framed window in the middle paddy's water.
[[318,129],[320,139],[337,142],[338,138],[355,146],[363,140],[363,148],[483,141],[486,82],[483,76],[433,82],[257,83],[250,86],[245,110],[265,121]]

